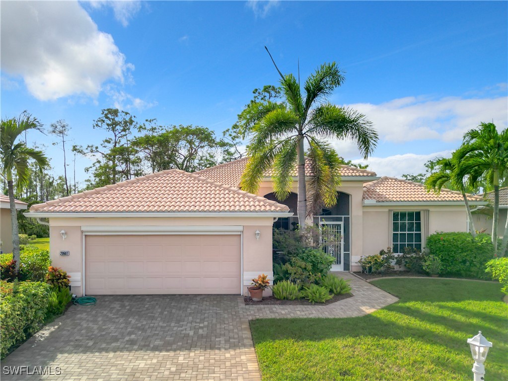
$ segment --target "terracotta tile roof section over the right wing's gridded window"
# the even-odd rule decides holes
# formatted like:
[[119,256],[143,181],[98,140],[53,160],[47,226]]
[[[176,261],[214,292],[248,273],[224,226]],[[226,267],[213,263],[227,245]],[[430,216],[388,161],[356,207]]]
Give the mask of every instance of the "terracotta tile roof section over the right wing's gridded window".
[[[363,186],[363,199],[376,202],[443,202],[463,201],[460,192],[441,189],[439,196],[430,192],[423,184],[383,176],[379,180],[371,181]],[[468,195],[469,201],[483,201],[480,196]]]

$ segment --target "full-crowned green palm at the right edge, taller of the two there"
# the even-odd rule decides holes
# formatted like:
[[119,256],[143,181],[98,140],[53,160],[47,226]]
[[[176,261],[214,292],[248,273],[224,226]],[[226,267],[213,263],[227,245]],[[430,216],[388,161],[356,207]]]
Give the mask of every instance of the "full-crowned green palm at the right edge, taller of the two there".
[[[494,123],[481,123],[478,129],[464,134],[462,146],[457,150],[459,173],[468,175],[470,181],[484,178],[494,189],[494,213],[492,218],[492,244],[497,256],[497,221],[499,219],[499,184],[508,173],[508,132],[499,133]],[[508,219],[506,221],[508,229]],[[505,229],[506,230],[506,229]],[[506,247],[503,239],[502,249]]]

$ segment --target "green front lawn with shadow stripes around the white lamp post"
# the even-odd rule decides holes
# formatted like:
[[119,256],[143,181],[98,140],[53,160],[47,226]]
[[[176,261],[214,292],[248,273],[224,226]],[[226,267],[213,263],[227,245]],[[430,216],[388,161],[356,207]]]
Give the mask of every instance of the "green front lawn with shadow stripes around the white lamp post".
[[481,330],[493,342],[486,379],[508,380],[508,306],[498,283],[435,278],[372,283],[400,301],[361,317],[252,321],[263,379],[472,379],[466,339]]

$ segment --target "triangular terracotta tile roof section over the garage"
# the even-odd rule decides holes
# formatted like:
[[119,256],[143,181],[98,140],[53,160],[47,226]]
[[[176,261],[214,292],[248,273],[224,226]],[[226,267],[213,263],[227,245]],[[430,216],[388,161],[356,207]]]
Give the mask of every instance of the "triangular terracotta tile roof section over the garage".
[[274,201],[177,169],[87,190],[30,212],[285,212]]

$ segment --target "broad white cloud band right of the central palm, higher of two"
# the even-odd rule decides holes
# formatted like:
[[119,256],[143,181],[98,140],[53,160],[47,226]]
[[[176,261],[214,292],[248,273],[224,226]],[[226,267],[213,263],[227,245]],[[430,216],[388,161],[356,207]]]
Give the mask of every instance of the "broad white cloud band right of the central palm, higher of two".
[[407,97],[373,105],[346,105],[365,114],[374,123],[380,140],[408,142],[424,139],[455,141],[480,122],[508,127],[508,97],[428,99]]

